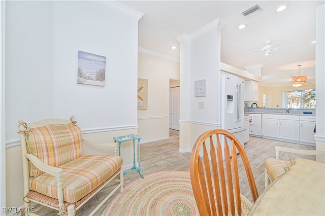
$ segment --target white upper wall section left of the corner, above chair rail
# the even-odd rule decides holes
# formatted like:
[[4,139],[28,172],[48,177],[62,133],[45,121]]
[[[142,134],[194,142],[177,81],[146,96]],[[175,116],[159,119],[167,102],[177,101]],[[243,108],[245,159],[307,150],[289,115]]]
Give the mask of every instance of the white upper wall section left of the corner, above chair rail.
[[20,118],[54,117],[52,22],[53,2],[6,4],[6,141],[18,139]]

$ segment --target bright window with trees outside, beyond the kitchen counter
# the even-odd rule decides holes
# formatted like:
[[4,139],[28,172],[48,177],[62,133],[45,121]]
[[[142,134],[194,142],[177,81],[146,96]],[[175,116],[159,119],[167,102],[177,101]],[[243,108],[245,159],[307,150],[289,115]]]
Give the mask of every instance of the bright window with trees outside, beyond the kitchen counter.
[[286,107],[298,109],[315,109],[316,107],[315,89],[286,91],[284,95]]

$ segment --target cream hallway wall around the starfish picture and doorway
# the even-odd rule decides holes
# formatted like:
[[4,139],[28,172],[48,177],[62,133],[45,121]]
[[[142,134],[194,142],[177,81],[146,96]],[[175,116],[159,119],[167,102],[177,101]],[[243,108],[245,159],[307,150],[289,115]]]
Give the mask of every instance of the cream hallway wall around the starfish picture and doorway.
[[169,79],[179,79],[178,59],[139,48],[138,77],[148,80],[148,109],[138,110],[141,142],[169,138]]

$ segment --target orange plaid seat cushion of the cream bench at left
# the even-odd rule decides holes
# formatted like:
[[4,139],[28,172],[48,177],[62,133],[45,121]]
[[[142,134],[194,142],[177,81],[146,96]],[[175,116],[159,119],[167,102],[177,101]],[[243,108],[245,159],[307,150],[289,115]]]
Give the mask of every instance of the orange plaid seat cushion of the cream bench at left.
[[[63,169],[63,201],[77,202],[104,183],[123,163],[120,156],[82,155],[59,166]],[[57,198],[56,177],[43,173],[28,180],[29,189]]]

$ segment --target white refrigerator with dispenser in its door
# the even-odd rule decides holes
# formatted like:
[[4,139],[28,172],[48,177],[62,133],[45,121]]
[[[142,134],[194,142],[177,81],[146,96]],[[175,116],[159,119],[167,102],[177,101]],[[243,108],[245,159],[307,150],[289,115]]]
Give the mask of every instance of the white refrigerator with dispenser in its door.
[[221,76],[221,128],[233,133],[244,148],[244,80]]

